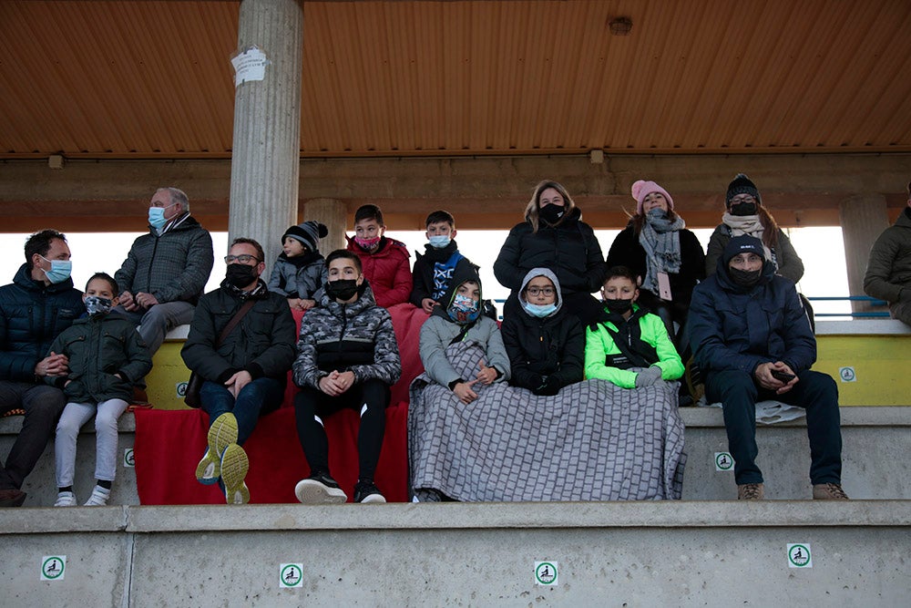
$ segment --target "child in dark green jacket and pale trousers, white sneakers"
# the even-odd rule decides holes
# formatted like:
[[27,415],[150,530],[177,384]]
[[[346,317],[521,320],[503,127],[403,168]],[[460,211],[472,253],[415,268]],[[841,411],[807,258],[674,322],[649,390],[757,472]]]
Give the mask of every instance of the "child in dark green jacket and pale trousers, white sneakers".
[[49,384],[63,388],[67,407],[56,428],[57,500],[55,507],[76,506],[73,474],[76,468],[76,438],[91,417],[96,429],[96,486],[87,507],[103,506],[110,497],[117,471],[118,418],[127,409],[133,385],[152,368],[152,357],[136,326],[119,314],[110,314],[118,304],[118,284],[106,273],[88,280],[88,316],[56,337],[51,355],[69,359],[67,376],[47,376]]

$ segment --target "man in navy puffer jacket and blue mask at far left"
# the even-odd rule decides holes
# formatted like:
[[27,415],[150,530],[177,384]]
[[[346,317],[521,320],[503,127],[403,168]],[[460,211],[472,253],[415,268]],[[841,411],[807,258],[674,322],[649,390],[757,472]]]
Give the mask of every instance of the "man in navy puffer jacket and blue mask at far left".
[[67,399],[45,386],[45,376],[67,374],[66,356],[47,350],[57,335],[83,313],[82,293],[69,278],[67,237],[56,230],[36,232],[26,242],[26,263],[13,283],[0,287],[0,413],[26,410],[26,421],[4,467],[0,467],[0,507],[19,507],[20,488],[45,451]]

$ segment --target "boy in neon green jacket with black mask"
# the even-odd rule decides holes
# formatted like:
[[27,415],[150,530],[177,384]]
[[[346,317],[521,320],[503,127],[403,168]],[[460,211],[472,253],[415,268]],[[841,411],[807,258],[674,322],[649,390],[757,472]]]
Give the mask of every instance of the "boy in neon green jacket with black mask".
[[635,304],[636,276],[625,266],[608,271],[604,310],[585,332],[585,377],[623,388],[676,380],[683,364],[660,317]]

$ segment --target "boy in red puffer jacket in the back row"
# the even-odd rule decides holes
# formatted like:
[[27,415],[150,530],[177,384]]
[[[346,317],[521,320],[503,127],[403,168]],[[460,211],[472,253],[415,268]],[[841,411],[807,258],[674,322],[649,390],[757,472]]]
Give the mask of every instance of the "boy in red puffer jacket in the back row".
[[363,205],[354,213],[354,236],[348,251],[357,254],[363,276],[374,291],[376,304],[389,308],[408,301],[412,289],[411,263],[404,242],[384,236],[383,211]]

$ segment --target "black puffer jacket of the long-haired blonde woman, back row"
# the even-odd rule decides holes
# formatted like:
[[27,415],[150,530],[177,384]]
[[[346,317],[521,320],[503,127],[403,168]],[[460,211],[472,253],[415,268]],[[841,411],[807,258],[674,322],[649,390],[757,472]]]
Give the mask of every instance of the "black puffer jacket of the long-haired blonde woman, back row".
[[529,222],[514,226],[496,256],[496,280],[517,294],[529,270],[549,268],[563,294],[597,292],[604,281],[604,256],[595,232],[581,217],[577,207],[556,227],[543,221],[537,232],[531,232]]

